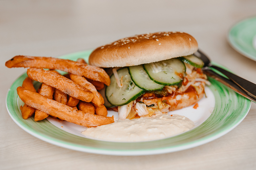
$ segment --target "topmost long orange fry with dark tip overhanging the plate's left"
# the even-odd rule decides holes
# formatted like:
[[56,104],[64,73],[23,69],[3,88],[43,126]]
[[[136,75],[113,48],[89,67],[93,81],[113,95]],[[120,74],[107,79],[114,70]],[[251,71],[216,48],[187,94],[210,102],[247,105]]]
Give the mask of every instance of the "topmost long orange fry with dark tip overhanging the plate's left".
[[71,61],[68,59],[59,59],[51,57],[32,57],[32,56],[15,56],[5,63],[5,66],[12,67],[35,67],[35,68],[47,68],[57,69],[72,73],[75,75],[84,76],[92,80],[96,80],[110,85],[110,78],[108,74],[96,66]]

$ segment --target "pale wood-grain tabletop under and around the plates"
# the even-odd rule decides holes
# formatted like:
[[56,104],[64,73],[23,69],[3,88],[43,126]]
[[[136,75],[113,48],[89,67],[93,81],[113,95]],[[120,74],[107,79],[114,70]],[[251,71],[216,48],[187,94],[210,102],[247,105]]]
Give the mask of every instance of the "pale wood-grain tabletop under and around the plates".
[[52,56],[88,50],[135,34],[184,31],[217,63],[256,83],[256,62],[236,52],[227,33],[255,16],[255,0],[0,1],[0,169],[256,169],[256,105],[226,135],[201,146],[151,156],[106,156],[46,143],[9,116],[5,97],[26,71],[8,69],[15,55]]

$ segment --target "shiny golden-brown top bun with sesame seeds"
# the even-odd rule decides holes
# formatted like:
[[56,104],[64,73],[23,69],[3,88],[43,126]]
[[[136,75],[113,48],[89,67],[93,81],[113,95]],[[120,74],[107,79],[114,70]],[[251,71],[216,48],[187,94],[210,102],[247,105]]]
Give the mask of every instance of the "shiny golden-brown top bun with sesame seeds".
[[188,56],[197,49],[197,41],[187,33],[147,33],[96,48],[89,63],[97,67],[126,67]]

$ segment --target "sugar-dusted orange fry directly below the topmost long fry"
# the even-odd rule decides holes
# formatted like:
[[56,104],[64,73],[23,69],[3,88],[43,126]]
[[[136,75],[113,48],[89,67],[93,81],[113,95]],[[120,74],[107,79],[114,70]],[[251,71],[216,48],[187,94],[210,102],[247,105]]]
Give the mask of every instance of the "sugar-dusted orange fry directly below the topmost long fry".
[[75,84],[72,80],[44,69],[30,68],[27,75],[38,82],[43,82],[51,87],[59,89],[61,92],[68,94],[76,99],[90,102],[94,95],[86,88]]

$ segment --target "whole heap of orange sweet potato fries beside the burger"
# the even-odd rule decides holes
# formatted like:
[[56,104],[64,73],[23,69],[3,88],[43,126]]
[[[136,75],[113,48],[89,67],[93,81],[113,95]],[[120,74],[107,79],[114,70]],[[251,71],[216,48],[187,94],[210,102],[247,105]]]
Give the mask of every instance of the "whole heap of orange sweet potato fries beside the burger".
[[[24,119],[35,113],[35,121],[50,115],[87,127],[114,122],[113,116],[107,117],[104,99],[94,86],[110,84],[110,78],[103,69],[87,65],[83,59],[71,61],[30,56],[15,56],[5,65],[9,68],[30,67],[22,87],[17,88],[20,99],[25,103],[23,107],[20,106]],[[63,76],[54,69],[69,74]],[[90,82],[93,81],[93,84],[86,78]],[[33,86],[33,80],[42,83],[38,92]]]

